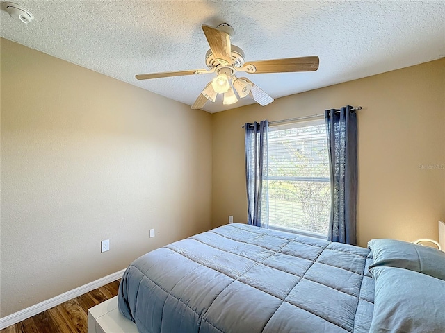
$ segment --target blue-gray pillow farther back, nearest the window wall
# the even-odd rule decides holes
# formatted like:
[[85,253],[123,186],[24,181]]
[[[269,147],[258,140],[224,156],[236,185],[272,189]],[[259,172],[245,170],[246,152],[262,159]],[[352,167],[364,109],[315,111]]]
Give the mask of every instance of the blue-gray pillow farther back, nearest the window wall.
[[373,239],[368,247],[374,255],[370,270],[377,266],[398,267],[445,280],[445,253],[442,251],[396,239]]

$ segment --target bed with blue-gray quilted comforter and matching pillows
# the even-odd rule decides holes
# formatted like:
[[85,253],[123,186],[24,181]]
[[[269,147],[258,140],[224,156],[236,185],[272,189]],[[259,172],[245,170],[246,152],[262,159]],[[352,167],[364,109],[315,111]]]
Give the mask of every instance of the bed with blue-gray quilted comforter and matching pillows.
[[[119,311],[142,333],[445,332],[443,298],[422,311],[408,307],[407,314],[394,319],[394,311],[403,312],[398,304],[411,302],[397,292],[392,295],[405,289],[406,280],[398,276],[416,274],[406,278],[419,280],[414,289],[422,289],[423,277],[432,279],[427,281],[432,289],[428,297],[445,295],[445,276],[428,275],[435,275],[435,268],[427,274],[423,268],[398,267],[403,266],[400,259],[391,265],[388,251],[381,250],[387,248],[385,241],[360,248],[250,225],[224,225],[131,263],[120,283]],[[436,264],[444,260],[445,275],[445,256],[434,259]],[[411,295],[412,305],[423,302],[424,293]],[[425,317],[426,311],[433,318],[425,325],[412,318],[413,312]]]

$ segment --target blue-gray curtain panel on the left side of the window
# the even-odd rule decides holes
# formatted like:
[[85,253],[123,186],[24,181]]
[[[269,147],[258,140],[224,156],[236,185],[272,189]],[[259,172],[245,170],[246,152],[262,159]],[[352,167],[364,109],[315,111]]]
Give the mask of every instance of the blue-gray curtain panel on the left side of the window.
[[245,123],[248,224],[268,228],[268,121]]

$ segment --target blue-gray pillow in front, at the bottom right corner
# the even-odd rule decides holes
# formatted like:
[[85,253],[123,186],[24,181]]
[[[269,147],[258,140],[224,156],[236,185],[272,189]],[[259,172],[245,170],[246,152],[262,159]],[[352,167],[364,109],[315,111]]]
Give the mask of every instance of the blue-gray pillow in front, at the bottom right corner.
[[369,332],[445,332],[445,281],[396,267],[373,267],[375,300]]

